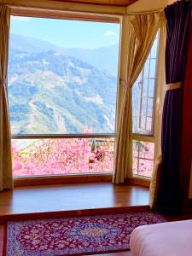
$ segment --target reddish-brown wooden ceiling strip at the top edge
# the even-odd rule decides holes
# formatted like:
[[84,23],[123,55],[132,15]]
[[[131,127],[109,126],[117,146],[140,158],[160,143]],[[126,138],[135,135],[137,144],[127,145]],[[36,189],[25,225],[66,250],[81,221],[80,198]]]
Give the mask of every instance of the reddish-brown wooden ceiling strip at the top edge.
[[91,3],[100,5],[111,5],[111,6],[128,6],[131,3],[137,2],[137,0],[54,0],[67,3]]

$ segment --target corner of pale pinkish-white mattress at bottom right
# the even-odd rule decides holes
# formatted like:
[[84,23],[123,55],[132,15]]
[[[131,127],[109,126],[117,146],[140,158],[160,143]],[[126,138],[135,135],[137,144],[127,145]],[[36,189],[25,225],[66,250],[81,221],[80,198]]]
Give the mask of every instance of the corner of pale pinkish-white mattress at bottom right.
[[192,219],[137,227],[130,243],[133,256],[192,256]]

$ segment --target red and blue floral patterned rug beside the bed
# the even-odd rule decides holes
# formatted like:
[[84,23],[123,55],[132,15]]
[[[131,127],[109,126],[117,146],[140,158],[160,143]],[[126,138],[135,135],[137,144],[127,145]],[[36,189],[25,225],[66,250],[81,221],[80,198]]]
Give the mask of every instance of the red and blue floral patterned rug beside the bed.
[[8,222],[3,256],[55,256],[129,250],[131,231],[165,222],[153,212]]

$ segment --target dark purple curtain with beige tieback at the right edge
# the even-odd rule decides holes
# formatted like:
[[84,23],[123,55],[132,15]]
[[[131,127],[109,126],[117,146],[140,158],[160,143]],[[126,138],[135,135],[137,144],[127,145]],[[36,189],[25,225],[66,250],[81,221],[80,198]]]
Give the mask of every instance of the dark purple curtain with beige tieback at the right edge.
[[[166,84],[183,82],[192,26],[192,0],[165,9],[167,20]],[[182,84],[183,86],[183,84]],[[167,90],[162,117],[162,167],[157,208],[177,213],[181,207],[179,182],[183,88]]]

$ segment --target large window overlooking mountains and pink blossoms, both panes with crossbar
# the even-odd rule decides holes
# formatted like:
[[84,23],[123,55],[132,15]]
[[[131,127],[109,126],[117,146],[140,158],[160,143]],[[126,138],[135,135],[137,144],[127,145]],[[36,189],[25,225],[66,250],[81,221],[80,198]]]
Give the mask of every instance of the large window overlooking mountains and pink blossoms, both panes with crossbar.
[[119,23],[11,16],[15,177],[113,172]]

